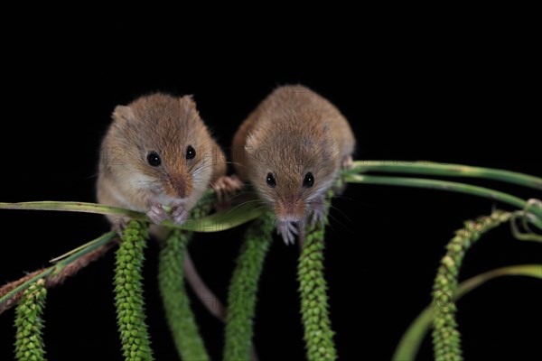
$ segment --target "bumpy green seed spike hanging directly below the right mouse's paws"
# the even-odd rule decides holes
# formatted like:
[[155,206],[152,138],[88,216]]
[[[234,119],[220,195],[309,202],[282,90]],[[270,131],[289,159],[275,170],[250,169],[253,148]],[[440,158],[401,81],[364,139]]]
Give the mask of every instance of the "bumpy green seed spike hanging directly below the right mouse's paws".
[[327,284],[323,275],[324,230],[325,226],[320,223],[308,228],[297,268],[306,356],[309,361],[337,358],[328,310]]

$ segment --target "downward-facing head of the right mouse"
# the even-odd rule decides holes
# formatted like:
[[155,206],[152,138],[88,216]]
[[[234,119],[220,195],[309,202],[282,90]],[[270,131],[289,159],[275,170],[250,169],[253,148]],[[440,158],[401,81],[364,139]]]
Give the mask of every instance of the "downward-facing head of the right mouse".
[[339,170],[339,149],[327,125],[248,135],[248,177],[277,220],[301,221],[311,200],[328,190]]

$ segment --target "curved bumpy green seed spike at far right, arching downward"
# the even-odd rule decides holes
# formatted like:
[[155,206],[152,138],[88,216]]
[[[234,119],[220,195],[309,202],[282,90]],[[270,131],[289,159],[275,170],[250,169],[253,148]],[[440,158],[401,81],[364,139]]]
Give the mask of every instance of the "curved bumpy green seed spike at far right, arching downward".
[[463,359],[460,334],[455,321],[457,277],[463,264],[463,257],[481,235],[508,222],[510,218],[511,213],[496,210],[489,217],[466,221],[464,227],[457,230],[453,239],[446,245],[447,252],[441,260],[433,286],[435,361]]

